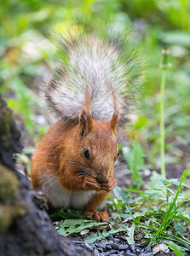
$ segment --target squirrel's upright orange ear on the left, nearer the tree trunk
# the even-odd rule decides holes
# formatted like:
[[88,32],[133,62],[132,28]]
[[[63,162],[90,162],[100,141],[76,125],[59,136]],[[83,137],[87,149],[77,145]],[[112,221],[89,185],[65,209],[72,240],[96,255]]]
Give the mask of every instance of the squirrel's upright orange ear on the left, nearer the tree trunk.
[[79,116],[79,129],[80,135],[86,135],[89,131],[93,130],[93,119],[92,115],[83,111]]

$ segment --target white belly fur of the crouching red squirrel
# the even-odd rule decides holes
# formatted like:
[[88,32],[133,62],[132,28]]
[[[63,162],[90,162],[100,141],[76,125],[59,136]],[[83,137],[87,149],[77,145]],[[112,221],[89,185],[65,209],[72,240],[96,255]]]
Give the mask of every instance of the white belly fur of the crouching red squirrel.
[[83,209],[95,191],[71,192],[60,186],[54,175],[43,176],[42,191],[53,207]]

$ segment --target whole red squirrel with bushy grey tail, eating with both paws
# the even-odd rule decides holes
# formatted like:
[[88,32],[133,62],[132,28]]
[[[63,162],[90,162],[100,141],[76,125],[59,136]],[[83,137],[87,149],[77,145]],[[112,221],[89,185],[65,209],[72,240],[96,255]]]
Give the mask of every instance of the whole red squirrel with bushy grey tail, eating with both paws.
[[43,191],[50,206],[82,209],[98,221],[109,219],[96,208],[117,185],[117,131],[141,82],[136,49],[117,37],[60,35],[59,63],[43,91],[58,120],[32,156],[32,188]]

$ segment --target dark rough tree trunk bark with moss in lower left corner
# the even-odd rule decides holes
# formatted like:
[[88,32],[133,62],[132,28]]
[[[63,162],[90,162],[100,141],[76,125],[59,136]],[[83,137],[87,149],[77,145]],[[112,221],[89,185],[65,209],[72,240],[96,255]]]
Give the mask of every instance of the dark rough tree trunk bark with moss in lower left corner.
[[21,149],[13,113],[0,95],[0,255],[94,255],[56,232],[45,202],[14,168],[12,155]]

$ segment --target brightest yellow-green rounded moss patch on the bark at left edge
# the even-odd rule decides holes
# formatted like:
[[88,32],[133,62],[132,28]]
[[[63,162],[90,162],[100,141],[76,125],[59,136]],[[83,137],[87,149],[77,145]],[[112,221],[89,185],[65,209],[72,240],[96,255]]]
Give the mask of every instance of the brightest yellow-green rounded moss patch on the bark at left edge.
[[18,195],[19,181],[13,173],[0,165],[0,203],[10,202]]

